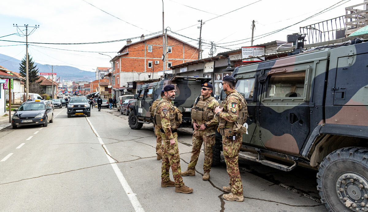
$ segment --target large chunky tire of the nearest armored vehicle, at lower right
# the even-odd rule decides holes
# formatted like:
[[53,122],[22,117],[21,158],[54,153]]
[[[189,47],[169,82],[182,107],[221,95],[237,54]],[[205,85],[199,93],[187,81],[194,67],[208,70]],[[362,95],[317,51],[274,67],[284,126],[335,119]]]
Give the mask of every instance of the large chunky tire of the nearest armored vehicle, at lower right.
[[[317,190],[329,212],[361,211],[368,196],[368,149],[345,147],[326,156],[318,168]],[[351,204],[345,206],[346,201]],[[353,210],[354,209],[354,210]]]

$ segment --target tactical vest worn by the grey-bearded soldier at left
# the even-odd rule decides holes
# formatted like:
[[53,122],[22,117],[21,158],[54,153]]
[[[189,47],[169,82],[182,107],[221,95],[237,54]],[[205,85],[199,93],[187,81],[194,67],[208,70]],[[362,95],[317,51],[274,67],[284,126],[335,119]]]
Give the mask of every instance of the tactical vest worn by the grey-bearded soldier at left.
[[156,105],[155,115],[153,117],[153,123],[155,123],[155,125],[158,126],[159,128],[162,128],[161,116],[160,116],[160,111],[158,111],[158,108],[159,108],[159,105],[162,104],[163,102],[169,103],[171,109],[174,111],[174,112],[169,113],[170,127],[171,129],[177,129],[179,125],[181,124],[183,115],[181,114],[181,111],[177,107],[171,105],[171,103],[166,99],[162,99]]

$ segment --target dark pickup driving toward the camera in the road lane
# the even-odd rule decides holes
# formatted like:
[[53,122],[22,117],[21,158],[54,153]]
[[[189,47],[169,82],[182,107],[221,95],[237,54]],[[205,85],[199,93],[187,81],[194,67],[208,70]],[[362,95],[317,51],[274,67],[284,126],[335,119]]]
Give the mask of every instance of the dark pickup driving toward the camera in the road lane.
[[68,118],[70,118],[71,115],[91,116],[91,107],[89,106],[87,98],[84,96],[71,97],[68,102],[67,115]]

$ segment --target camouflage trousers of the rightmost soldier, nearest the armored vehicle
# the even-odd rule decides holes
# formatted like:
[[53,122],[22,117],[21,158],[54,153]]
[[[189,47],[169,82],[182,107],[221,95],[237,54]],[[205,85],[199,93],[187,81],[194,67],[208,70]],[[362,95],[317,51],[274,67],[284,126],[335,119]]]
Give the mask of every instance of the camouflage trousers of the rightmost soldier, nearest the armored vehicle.
[[241,183],[239,172],[239,150],[243,141],[242,135],[237,136],[233,140],[233,134],[226,132],[222,136],[223,154],[226,163],[226,171],[230,177],[229,185],[231,186],[231,193],[235,195],[243,195],[243,184]]

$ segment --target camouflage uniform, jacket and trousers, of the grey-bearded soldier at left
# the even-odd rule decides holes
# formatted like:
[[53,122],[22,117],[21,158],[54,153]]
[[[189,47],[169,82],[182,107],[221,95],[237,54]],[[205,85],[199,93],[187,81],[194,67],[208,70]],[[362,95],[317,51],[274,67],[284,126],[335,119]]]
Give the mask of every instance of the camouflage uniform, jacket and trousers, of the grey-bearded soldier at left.
[[[162,129],[161,132],[162,142],[164,146],[162,167],[161,167],[161,180],[163,182],[170,181],[170,166],[171,171],[173,171],[173,177],[176,187],[181,187],[184,185],[183,178],[180,176],[180,156],[178,148],[178,134],[176,132],[171,133],[171,126],[169,120],[169,113],[174,112],[173,103],[164,97],[163,99],[169,101],[170,103],[163,102],[158,105],[157,111],[160,113]],[[170,139],[175,139],[174,145],[170,145]]]

